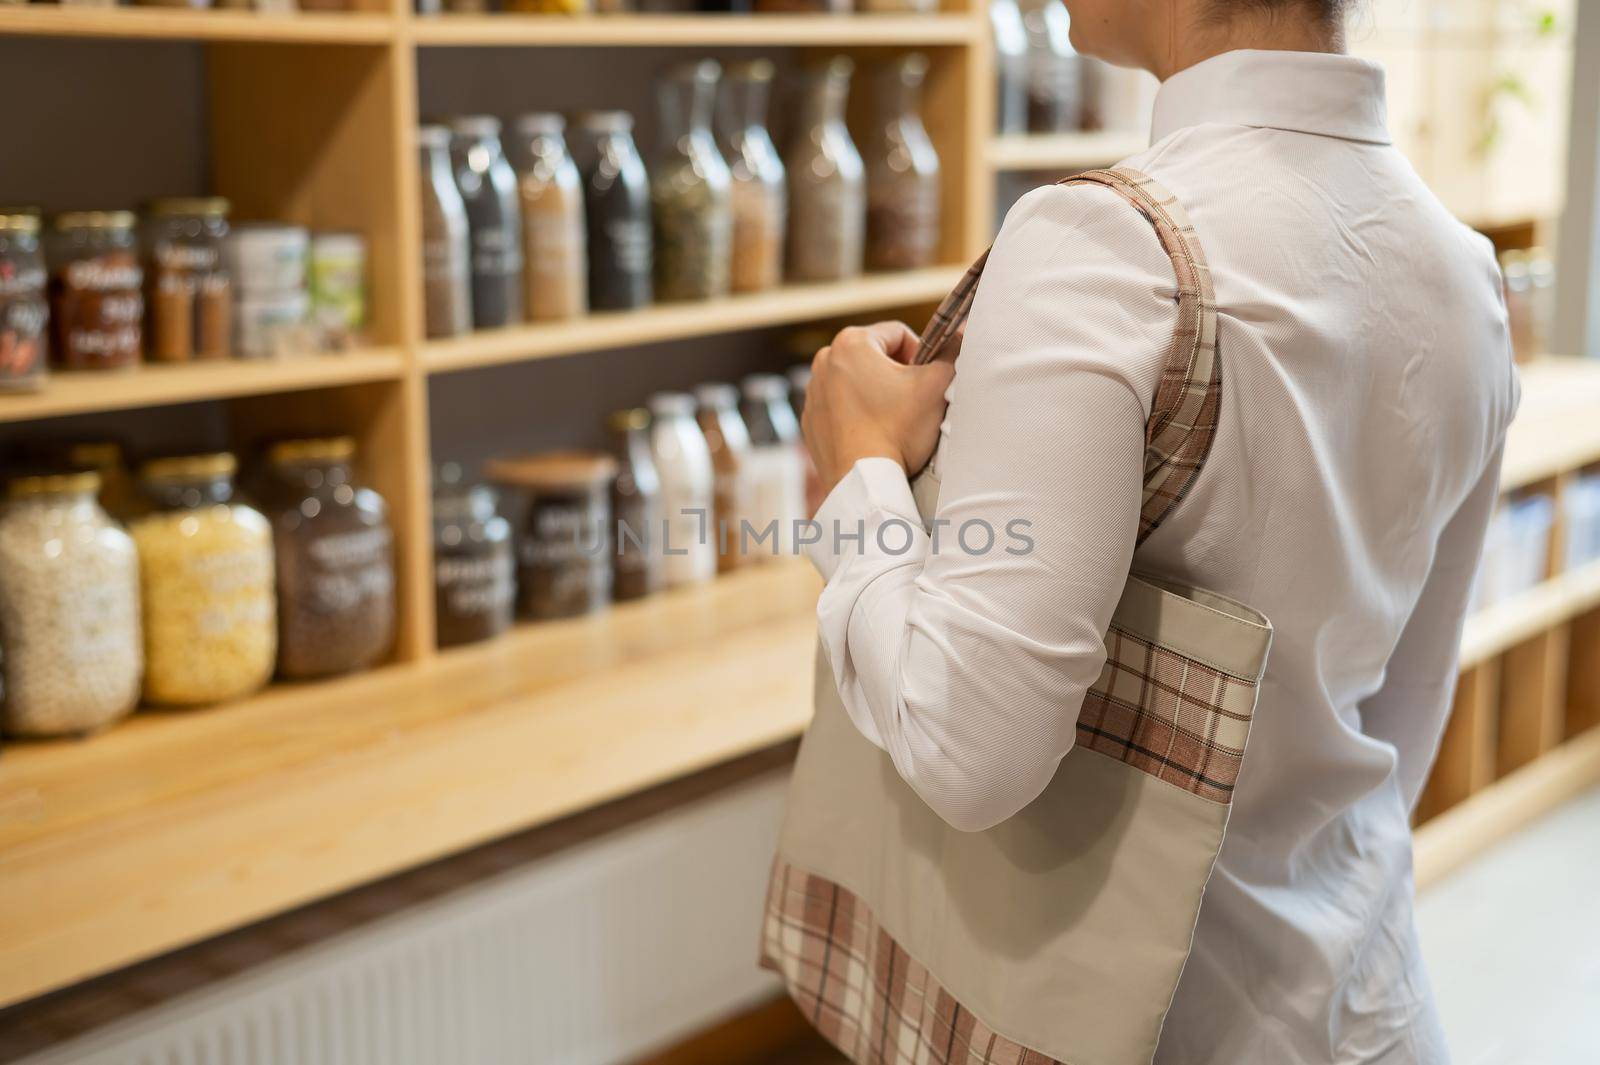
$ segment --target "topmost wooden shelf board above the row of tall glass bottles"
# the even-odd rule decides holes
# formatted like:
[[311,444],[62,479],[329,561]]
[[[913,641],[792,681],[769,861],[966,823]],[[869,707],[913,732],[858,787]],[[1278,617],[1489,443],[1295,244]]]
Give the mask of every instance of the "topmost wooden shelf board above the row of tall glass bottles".
[[440,14],[410,22],[418,45],[562,48],[965,45],[976,29],[966,14]]

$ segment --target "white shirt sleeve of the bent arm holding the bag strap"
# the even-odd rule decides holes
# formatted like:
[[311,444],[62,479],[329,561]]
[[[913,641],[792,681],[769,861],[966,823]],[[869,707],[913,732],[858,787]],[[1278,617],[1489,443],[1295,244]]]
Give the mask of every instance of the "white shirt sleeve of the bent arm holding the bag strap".
[[1154,229],[1088,185],[1006,217],[950,385],[933,529],[864,459],[818,513],[822,644],[851,721],[962,830],[1070,750],[1138,534],[1144,424],[1176,325]]

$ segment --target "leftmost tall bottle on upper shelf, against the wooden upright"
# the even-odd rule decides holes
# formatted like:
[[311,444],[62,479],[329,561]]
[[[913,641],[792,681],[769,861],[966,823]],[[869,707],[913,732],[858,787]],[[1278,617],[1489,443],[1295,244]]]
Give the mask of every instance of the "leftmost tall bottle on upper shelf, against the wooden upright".
[[422,318],[429,337],[472,329],[467,208],[450,166],[450,130],[416,131],[422,163]]

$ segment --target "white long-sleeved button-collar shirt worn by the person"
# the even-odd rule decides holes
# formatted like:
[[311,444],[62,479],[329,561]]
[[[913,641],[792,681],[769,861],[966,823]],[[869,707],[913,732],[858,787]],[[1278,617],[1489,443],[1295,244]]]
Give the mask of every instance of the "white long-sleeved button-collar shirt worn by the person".
[[[1490,243],[1384,122],[1382,70],[1347,56],[1235,51],[1162,86],[1154,144],[1126,165],[1182,201],[1211,262],[1222,413],[1194,491],[1138,552],[1176,283],[1150,225],[1098,187],[1035,190],[1005,221],[947,393],[941,548],[901,550],[917,509],[886,459],[819,513],[846,536],[866,523],[813,548],[845,707],[965,830],[1056,772],[1130,563],[1274,622],[1158,1062],[1446,1060],[1408,814],[1518,392]],[[1006,553],[1018,518],[1034,547]],[[968,521],[997,548],[958,550]]]

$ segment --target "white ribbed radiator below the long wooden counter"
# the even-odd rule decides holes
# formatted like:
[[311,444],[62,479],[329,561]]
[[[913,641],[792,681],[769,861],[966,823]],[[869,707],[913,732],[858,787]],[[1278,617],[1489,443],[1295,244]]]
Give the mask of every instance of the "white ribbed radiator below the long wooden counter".
[[755,955],[784,782],[741,784],[22,1060],[626,1062],[776,991]]

